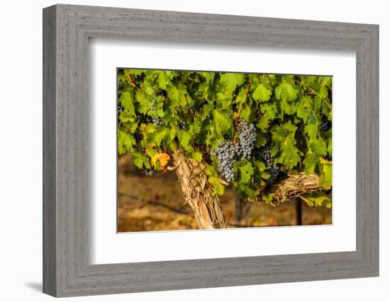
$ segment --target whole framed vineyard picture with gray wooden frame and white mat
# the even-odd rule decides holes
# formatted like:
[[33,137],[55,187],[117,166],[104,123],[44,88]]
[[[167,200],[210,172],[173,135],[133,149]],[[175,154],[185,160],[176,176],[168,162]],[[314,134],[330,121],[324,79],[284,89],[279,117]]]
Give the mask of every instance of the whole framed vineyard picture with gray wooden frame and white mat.
[[378,276],[378,25],[43,10],[43,291]]

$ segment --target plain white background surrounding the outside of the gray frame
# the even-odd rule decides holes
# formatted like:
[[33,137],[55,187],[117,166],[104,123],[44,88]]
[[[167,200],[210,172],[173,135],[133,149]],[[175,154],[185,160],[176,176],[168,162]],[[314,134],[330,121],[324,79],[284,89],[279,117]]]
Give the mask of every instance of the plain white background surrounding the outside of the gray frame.
[[[78,301],[388,301],[389,19],[385,1],[66,1],[69,4],[376,23],[381,40],[381,277],[76,298]],[[49,301],[42,272],[42,8],[55,1],[4,1],[0,46],[0,298]],[[386,255],[385,255],[386,254]]]

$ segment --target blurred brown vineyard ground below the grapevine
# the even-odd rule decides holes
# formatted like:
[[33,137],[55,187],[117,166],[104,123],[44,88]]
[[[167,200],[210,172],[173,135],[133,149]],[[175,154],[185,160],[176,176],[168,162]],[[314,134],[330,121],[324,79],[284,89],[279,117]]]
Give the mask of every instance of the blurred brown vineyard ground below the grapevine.
[[[308,207],[304,202],[286,202],[279,207],[252,204],[245,224],[236,223],[235,193],[230,185],[220,198],[227,227],[296,226],[331,224],[332,209]],[[301,215],[298,214],[299,209]],[[301,220],[301,221],[299,221]],[[145,175],[126,154],[118,160],[117,221],[119,232],[196,229],[189,205],[184,204],[175,171]]]

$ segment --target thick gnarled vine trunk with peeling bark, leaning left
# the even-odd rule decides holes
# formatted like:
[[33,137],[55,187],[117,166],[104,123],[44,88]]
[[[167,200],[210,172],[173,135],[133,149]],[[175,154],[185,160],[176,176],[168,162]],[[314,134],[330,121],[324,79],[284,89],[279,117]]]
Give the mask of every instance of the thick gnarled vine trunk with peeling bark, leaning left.
[[180,150],[173,152],[172,157],[184,200],[192,208],[199,228],[226,228],[219,197],[212,194],[204,163],[186,158]]

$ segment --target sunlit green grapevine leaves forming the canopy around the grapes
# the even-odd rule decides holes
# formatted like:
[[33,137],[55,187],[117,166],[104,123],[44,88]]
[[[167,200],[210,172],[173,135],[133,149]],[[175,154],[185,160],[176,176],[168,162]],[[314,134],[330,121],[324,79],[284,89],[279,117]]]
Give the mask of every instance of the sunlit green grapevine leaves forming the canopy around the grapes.
[[[207,165],[214,194],[223,194],[211,151],[221,141],[237,139],[236,122],[245,120],[255,124],[256,148],[265,146],[265,134],[272,134],[274,163],[286,173],[316,173],[325,190],[332,187],[332,130],[320,129],[323,115],[332,120],[329,76],[119,69],[118,82],[124,109],[118,117],[117,149],[132,153],[138,168],[162,169],[158,155],[180,149]],[[268,169],[257,158],[237,161],[233,184],[240,197],[251,200],[260,194],[272,203],[264,190]],[[328,207],[325,196],[303,198]]]

